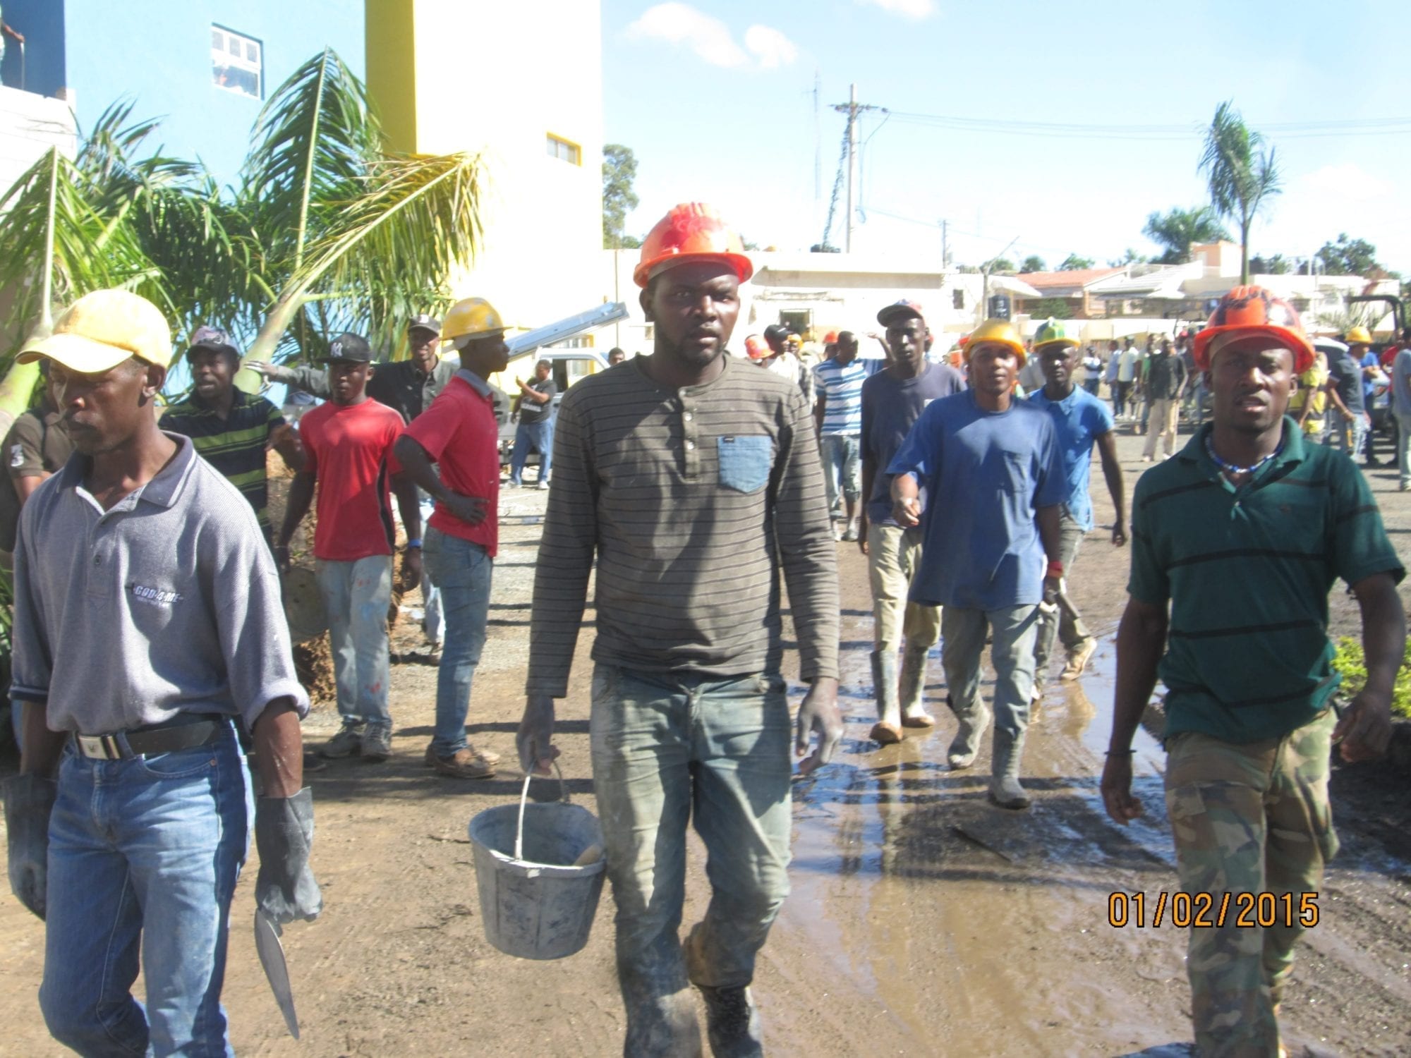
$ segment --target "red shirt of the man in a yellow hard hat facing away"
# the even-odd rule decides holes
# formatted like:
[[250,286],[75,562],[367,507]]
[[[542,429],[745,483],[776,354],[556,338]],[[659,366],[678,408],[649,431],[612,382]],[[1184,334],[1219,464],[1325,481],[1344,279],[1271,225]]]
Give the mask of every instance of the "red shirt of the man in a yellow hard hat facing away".
[[440,464],[442,482],[464,497],[485,498],[485,521],[467,525],[440,504],[428,525],[447,536],[478,543],[495,557],[499,546],[499,423],[490,395],[481,395],[457,372],[432,406],[412,419],[406,434]]

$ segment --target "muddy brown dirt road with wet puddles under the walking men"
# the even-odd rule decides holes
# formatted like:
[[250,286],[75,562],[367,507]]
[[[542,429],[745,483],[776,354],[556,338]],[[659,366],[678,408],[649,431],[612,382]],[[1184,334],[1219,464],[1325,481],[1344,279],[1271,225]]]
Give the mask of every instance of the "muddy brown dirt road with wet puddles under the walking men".
[[[1141,470],[1137,443],[1123,437],[1120,451],[1130,491]],[[1099,522],[1110,521],[1095,478]],[[1411,497],[1394,491],[1394,474],[1370,480],[1400,546],[1411,533]],[[538,492],[505,497],[490,645],[471,705],[471,736],[507,759],[522,704],[542,509]],[[847,736],[831,767],[796,786],[793,896],[756,982],[769,1051],[1123,1055],[1189,1040],[1184,932],[1108,921],[1110,893],[1144,893],[1154,903],[1175,887],[1156,741],[1143,734],[1139,742],[1144,820],[1116,827],[1096,794],[1126,554],[1101,530],[1084,545],[1072,595],[1108,640],[1079,684],[1050,687],[1024,758],[1034,805],[1016,814],[985,800],[988,745],[972,772],[945,767],[954,732],[947,715],[933,734],[900,746],[878,749],[866,739],[873,721],[866,570],[854,545],[838,549]],[[409,625],[398,632],[402,650],[415,647]],[[1340,594],[1335,626],[1356,629],[1355,608]],[[580,643],[559,731],[573,797],[593,807],[590,638],[586,632]],[[796,670],[796,659],[787,667]],[[604,894],[593,938],[571,959],[523,962],[490,948],[466,824],[508,803],[518,783],[509,772],[487,783],[432,776],[422,752],[435,669],[404,656],[392,680],[392,760],[339,762],[310,776],[326,911],[285,934],[302,1042],[285,1035],[254,955],[253,865],[241,879],[224,993],[237,1051],[619,1054],[611,899]],[[928,695],[944,714],[938,656]],[[316,742],[333,726],[333,712],[320,710],[306,736]],[[1343,851],[1319,894],[1322,918],[1300,951],[1285,1034],[1294,1054],[1411,1054],[1411,776],[1390,766],[1338,769],[1333,789]],[[543,796],[552,797],[552,787]],[[704,908],[703,861],[697,844],[687,923]],[[34,999],[42,940],[28,913],[0,900],[0,1055],[59,1052]]]

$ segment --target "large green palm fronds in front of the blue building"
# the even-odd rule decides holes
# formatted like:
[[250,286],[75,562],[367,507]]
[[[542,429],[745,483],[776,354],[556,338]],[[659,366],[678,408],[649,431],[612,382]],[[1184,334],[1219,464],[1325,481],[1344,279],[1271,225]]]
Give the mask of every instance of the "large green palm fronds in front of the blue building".
[[[0,286],[20,289],[27,324],[126,286],[179,334],[217,323],[260,360],[312,360],[343,330],[395,350],[401,322],[446,306],[480,245],[480,155],[384,151],[363,83],[332,51],[271,96],[234,189],[190,162],[133,161],[155,123],[126,126],[128,111],[110,109],[73,162],[51,151],[0,197]],[[13,353],[0,423],[35,379]]]

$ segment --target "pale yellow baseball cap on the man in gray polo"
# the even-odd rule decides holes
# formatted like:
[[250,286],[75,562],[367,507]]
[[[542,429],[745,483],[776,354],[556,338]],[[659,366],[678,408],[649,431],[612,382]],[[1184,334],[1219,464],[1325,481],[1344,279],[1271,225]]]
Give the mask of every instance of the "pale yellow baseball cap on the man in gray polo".
[[131,291],[85,293],[54,322],[54,333],[20,351],[21,364],[56,360],[82,375],[97,375],[128,357],[166,367],[172,332],[161,309]]

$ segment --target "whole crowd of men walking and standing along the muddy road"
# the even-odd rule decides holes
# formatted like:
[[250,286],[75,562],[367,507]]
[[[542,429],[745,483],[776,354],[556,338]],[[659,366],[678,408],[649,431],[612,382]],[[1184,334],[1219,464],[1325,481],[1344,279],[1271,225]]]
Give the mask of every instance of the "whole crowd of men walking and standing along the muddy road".
[[[23,755],[6,818],[11,886],[47,924],[40,1000],[56,1040],[82,1054],[229,1052],[226,920],[251,829],[258,913],[288,923],[320,911],[299,734],[309,700],[279,588],[310,508],[341,717],[320,753],[391,753],[387,609],[401,546],[404,585],[422,584],[440,645],[426,766],[495,774],[498,758],[467,741],[466,718],[499,490],[522,484],[529,450],[549,495],[515,748],[525,772],[547,773],[559,756],[556,703],[591,581],[591,769],[625,1054],[701,1052],[689,987],[704,999],[713,1054],[762,1054],[751,985],[789,892],[790,755],[813,772],[842,735],[838,563],[851,552],[840,542],[866,557],[873,598],[871,738],[937,725],[924,686],[941,643],[950,766],[974,766],[992,726],[989,797],[1030,804],[1022,755],[1050,659],[1061,645],[1060,676],[1074,680],[1096,646],[1067,590],[1095,529],[1094,451],[1115,509],[1110,546],[1129,543],[1115,434],[1137,416],[1134,396],[1149,416],[1144,458],[1158,444],[1164,458],[1132,501],[1108,811],[1119,822],[1141,811],[1129,753],[1160,677],[1182,887],[1216,901],[1319,887],[1336,851],[1331,748],[1362,760],[1390,738],[1403,567],[1352,460],[1300,429],[1312,402],[1288,416],[1298,379],[1316,370],[1297,313],[1236,288],[1198,333],[1146,354],[1112,343],[1106,361],[1062,322],[1024,341],[986,320],[952,365],[928,357],[924,310],[900,300],[869,333],[885,350],[873,371],[847,330],[814,364],[782,326],[727,353],[752,271],[715,210],[670,210],[634,274],[652,353],[614,350],[608,370],[562,395],[539,363],[519,384],[504,480],[490,378],[509,347],[483,299],[409,320],[401,363],[375,364],[357,334],[333,339],[319,367],[247,363],[323,398],[296,429],[233,387],[238,350],[210,327],[188,343],[190,394],[159,418],[169,329],[123,291],[79,299],[21,353],[45,365],[45,384],[7,440],[24,484],[10,688]],[[1331,381],[1340,371],[1331,365],[1314,392],[1350,416]],[[1411,350],[1393,375],[1411,419]],[[1181,402],[1202,388],[1209,422],[1177,447]],[[1204,398],[1195,405],[1204,418]],[[49,443],[61,433],[72,456]],[[270,449],[293,471],[277,529]],[[1401,466],[1405,482],[1404,454]],[[1362,607],[1369,673],[1340,718],[1326,638],[1338,578]],[[782,588],[807,684],[796,711]],[[707,848],[711,899],[683,941],[689,824]],[[1192,931],[1202,1055],[1277,1052],[1300,931]],[[140,962],[145,1004],[131,995]]]

